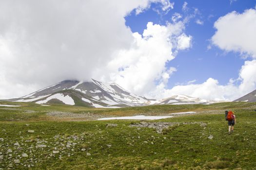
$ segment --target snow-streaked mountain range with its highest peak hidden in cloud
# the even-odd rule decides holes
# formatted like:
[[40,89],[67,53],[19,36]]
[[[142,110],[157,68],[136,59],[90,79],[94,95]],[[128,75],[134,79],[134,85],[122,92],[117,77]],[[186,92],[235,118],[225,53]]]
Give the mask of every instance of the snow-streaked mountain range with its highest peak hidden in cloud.
[[175,95],[160,101],[147,99],[128,92],[116,83],[102,83],[93,79],[91,82],[65,80],[29,95],[8,101],[35,102],[43,105],[68,104],[98,108],[118,108],[153,104],[210,104],[217,102],[185,95]]

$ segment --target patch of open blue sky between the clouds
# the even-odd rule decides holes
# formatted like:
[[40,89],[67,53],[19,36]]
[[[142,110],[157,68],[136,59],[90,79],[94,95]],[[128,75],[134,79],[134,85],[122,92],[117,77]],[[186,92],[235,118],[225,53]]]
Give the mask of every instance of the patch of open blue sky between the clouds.
[[[182,5],[187,2],[190,9],[187,13],[182,11]],[[155,9],[159,8],[159,3],[153,3],[144,12],[136,15],[135,10],[125,17],[126,25],[132,32],[143,33],[147,22],[165,25],[166,21],[172,22],[175,13],[188,15],[198,9],[198,14],[191,18],[186,24],[185,33],[193,36],[192,47],[179,51],[176,58],[167,63],[167,67],[175,67],[177,71],[171,75],[168,88],[175,85],[186,84],[196,80],[196,83],[203,83],[209,77],[217,79],[220,85],[225,85],[230,78],[237,79],[244,59],[237,52],[226,52],[218,47],[211,45],[210,39],[215,34],[214,23],[219,17],[236,11],[244,12],[246,9],[254,8],[256,0],[173,0],[174,9],[167,14],[158,14]],[[196,23],[199,19],[202,25]],[[211,49],[207,46],[211,45]]]

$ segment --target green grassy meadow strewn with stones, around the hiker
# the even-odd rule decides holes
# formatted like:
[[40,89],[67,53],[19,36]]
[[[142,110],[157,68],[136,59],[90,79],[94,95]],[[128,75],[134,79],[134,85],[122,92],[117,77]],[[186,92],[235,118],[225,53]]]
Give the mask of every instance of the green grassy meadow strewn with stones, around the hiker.
[[[11,103],[6,102],[6,104]],[[2,169],[8,167],[27,169],[28,165],[36,170],[256,169],[256,112],[254,111],[256,103],[161,105],[122,109],[18,104],[23,106],[15,107],[16,110],[0,107],[0,138],[3,138],[3,141],[0,140],[0,155],[3,155],[3,159],[0,160]],[[234,109],[237,119],[235,132],[231,135],[227,134],[227,121],[223,112],[228,108]],[[179,122],[179,125],[163,130],[163,134],[158,134],[152,128],[129,127],[130,124],[139,122],[136,120],[54,121],[45,116],[51,111],[90,112],[101,115],[118,115],[118,113],[159,115],[207,110],[219,110],[220,114],[195,114],[152,120],[152,122]],[[184,124],[186,122],[189,124]],[[207,125],[201,127],[200,123],[191,124],[191,122]],[[116,123],[118,126],[107,127],[107,123]],[[35,132],[28,133],[28,130]],[[211,135],[213,139],[208,138]],[[20,149],[14,146],[16,142],[20,144]],[[68,143],[72,144],[70,148],[66,147]],[[36,148],[39,144],[45,144],[47,147]],[[13,152],[7,154],[8,149],[12,149]],[[27,153],[28,157],[22,157],[22,153]],[[20,164],[15,164],[14,159],[19,159]]]

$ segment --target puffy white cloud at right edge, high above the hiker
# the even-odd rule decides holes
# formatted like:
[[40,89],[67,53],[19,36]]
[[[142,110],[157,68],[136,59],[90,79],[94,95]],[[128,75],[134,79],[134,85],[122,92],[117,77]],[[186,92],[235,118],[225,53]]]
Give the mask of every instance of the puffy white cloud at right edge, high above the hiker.
[[256,58],[256,9],[242,14],[233,11],[218,18],[214,27],[217,29],[212,37],[214,45],[225,51]]

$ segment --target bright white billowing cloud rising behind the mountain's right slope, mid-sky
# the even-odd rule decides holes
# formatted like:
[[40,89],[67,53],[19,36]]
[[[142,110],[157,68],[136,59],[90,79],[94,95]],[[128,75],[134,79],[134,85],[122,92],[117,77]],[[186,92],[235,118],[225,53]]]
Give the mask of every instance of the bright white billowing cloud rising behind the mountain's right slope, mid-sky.
[[[116,82],[139,95],[148,96],[158,85],[166,85],[176,68],[166,68],[175,52],[190,47],[191,36],[184,34],[184,23],[166,26],[148,22],[143,34],[134,33],[130,49],[117,52],[104,70],[111,72],[102,81]],[[175,51],[175,52],[174,52]]]

